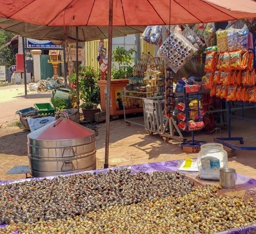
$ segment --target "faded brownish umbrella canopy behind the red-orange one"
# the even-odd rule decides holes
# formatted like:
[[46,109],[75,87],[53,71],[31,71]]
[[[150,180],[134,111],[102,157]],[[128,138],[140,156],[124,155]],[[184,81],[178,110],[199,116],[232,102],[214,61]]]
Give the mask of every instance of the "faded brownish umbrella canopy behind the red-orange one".
[[[47,27],[37,24],[0,18],[0,28],[19,34],[22,37],[30,37],[38,40],[76,40],[76,27]],[[143,26],[117,26],[113,27],[113,37],[123,37],[128,34],[142,33]],[[108,27],[80,26],[78,27],[78,41],[88,42],[109,38]]]

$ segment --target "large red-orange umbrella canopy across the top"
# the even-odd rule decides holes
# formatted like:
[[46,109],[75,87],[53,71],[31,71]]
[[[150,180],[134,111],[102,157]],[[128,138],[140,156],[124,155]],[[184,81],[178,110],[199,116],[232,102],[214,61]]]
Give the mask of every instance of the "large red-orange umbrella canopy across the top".
[[[109,0],[0,0],[0,17],[44,26],[109,26]],[[113,0],[113,26],[256,17],[252,0]]]

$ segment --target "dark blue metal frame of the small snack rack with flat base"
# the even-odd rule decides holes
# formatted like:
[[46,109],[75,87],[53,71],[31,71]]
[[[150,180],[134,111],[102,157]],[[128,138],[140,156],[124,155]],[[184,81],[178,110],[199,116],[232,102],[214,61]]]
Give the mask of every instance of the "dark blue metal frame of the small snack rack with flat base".
[[202,96],[199,95],[198,91],[194,93],[187,93],[186,89],[184,89],[184,104],[185,104],[185,116],[186,116],[186,131],[191,132],[192,139],[186,142],[180,143],[180,146],[186,147],[200,147],[202,144],[207,143],[206,141],[195,140],[194,131],[189,130],[189,121],[191,120],[190,112],[191,108],[189,106],[189,101],[196,100],[197,101],[197,120],[202,121],[202,117],[200,114],[200,105],[199,101],[202,99]]

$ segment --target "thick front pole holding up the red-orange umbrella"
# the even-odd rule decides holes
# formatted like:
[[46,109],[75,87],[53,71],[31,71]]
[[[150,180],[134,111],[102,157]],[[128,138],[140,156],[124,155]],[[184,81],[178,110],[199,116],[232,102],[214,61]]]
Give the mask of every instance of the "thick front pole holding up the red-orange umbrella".
[[107,106],[106,106],[106,141],[104,168],[109,167],[109,125],[110,125],[110,86],[112,66],[112,32],[113,32],[113,0],[109,0],[109,44],[108,44],[108,78],[107,78]]

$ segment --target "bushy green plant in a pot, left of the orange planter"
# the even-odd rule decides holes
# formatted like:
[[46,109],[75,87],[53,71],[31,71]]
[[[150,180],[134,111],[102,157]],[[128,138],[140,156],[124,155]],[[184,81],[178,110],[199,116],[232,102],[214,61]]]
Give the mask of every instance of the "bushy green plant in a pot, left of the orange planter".
[[[84,120],[93,121],[94,114],[100,112],[97,108],[100,103],[100,93],[97,81],[100,73],[92,67],[80,67],[78,71],[78,88],[82,104],[80,105]],[[72,74],[70,83],[73,86],[72,93],[76,93],[76,74]]]

